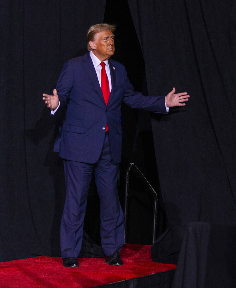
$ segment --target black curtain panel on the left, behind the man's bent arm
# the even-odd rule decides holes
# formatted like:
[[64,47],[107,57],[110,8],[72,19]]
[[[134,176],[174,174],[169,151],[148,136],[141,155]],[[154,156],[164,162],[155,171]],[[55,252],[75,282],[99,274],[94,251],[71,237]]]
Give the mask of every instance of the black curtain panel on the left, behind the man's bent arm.
[[58,119],[42,101],[65,61],[86,52],[105,0],[1,1],[0,261],[58,255],[65,184]]

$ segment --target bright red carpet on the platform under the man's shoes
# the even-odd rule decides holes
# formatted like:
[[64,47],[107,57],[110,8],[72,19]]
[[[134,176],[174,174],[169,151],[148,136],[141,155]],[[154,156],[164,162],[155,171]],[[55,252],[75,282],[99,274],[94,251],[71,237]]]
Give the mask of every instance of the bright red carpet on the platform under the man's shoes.
[[79,268],[67,268],[60,257],[35,257],[0,263],[0,287],[90,288],[176,268],[154,263],[150,245],[126,244],[121,267],[109,266],[103,258],[79,258]]

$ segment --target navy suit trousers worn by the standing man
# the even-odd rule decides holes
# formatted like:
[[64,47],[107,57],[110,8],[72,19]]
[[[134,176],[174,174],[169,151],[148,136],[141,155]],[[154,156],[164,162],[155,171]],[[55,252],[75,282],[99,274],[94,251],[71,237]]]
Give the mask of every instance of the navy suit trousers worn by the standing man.
[[78,257],[82,246],[88,189],[94,171],[100,197],[101,244],[105,255],[120,251],[124,244],[124,214],[120,206],[117,180],[119,164],[112,160],[109,130],[94,164],[64,160],[66,199],[61,219],[61,256]]

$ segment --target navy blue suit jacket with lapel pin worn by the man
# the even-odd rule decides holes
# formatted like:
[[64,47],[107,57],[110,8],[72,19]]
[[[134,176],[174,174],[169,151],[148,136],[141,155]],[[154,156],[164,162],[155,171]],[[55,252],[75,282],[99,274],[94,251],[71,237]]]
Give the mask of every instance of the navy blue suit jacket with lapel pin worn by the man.
[[106,123],[114,163],[121,160],[121,101],[132,108],[166,113],[165,96],[150,97],[135,92],[125,67],[108,60],[112,90],[107,106],[89,52],[65,63],[56,90],[60,108],[66,109],[63,126],[54,151],[61,158],[79,162],[97,162],[103,147]]

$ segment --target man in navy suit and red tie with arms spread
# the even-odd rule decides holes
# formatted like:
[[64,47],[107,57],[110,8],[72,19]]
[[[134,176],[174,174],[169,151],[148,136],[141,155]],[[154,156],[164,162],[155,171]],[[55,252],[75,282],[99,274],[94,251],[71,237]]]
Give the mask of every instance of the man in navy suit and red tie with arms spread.
[[135,92],[123,65],[114,54],[114,25],[96,24],[87,33],[89,52],[67,61],[53,95],[43,94],[51,113],[66,109],[54,151],[63,158],[66,199],[61,220],[61,256],[66,267],[78,267],[87,194],[95,174],[101,208],[101,243],[109,265],[121,266],[124,215],[117,177],[121,160],[121,102],[132,108],[167,113],[184,106],[189,95],[175,93],[150,97]]

